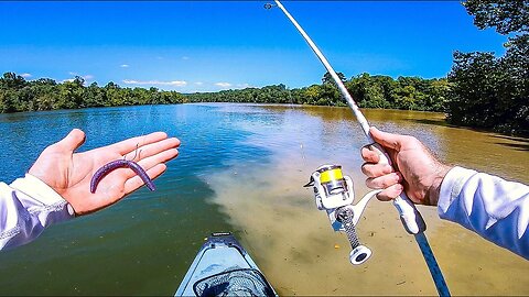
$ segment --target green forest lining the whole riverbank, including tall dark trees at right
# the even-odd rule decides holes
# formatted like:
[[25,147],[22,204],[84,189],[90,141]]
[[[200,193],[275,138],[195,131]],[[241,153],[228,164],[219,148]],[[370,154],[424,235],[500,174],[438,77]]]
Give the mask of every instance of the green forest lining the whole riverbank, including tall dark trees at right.
[[[506,53],[454,53],[446,77],[392,78],[358,74],[342,81],[360,108],[438,111],[451,124],[529,136],[529,0],[463,2],[479,29],[509,35]],[[85,86],[85,80],[26,80],[15,73],[0,78],[0,112],[89,107],[173,105],[185,102],[252,102],[346,106],[328,74],[321,84],[290,89],[279,84],[217,92],[180,94],[158,88],[122,88],[110,81]]]

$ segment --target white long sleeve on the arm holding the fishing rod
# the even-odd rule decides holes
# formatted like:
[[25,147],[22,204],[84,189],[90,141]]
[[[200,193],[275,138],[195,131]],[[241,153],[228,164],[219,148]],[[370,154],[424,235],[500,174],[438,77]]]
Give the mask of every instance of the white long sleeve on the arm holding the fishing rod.
[[529,260],[529,186],[454,167],[441,185],[438,212]]

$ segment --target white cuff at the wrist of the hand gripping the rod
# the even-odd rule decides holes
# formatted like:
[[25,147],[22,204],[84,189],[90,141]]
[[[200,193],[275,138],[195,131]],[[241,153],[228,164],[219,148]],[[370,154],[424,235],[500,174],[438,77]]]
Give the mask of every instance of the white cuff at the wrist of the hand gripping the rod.
[[441,184],[441,191],[438,201],[439,217],[444,219],[444,213],[446,213],[449,207],[460,196],[463,185],[475,174],[477,174],[476,170],[466,169],[460,166],[450,169]]

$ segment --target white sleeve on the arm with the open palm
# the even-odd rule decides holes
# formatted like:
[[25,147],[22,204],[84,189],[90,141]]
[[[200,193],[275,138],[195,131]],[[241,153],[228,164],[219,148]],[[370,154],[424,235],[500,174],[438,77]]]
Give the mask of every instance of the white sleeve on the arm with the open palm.
[[73,217],[72,207],[36,177],[0,183],[0,250],[25,244],[52,223]]

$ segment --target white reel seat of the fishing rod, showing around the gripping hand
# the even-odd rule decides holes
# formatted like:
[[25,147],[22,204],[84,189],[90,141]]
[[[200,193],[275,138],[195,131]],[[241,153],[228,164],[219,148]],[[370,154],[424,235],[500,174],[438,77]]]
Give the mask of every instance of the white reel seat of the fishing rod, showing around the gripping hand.
[[[389,155],[385,152],[384,147],[378,143],[369,144],[369,148],[380,156],[379,164],[391,165]],[[391,165],[392,166],[392,165]],[[410,234],[418,234],[427,230],[427,223],[422,218],[415,205],[408,198],[404,191],[399,197],[393,199],[393,206],[399,211],[400,221],[404,226],[404,229]]]

